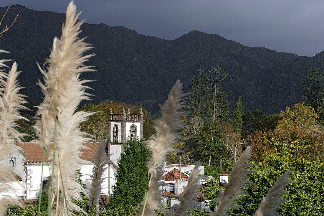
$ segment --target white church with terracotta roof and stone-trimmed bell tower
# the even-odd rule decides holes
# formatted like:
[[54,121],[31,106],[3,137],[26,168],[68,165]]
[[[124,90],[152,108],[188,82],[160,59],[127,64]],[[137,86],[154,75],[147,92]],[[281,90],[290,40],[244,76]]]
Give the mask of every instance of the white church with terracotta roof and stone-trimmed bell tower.
[[[131,114],[130,109],[125,112],[123,108],[119,114],[113,114],[110,108],[107,124],[109,128],[109,137],[106,142],[106,154],[110,160],[107,165],[107,170],[104,177],[107,177],[102,187],[102,195],[110,195],[112,187],[115,184],[115,176],[117,173],[117,162],[123,151],[123,144],[127,139],[142,139],[143,138],[143,112],[142,108],[139,114]],[[50,168],[52,161],[46,160],[43,167],[43,175],[41,175],[42,153],[41,147],[35,143],[17,143],[23,151],[16,151],[13,154],[7,155],[8,163],[15,168],[16,179],[18,183],[14,184],[15,191],[11,196],[16,196],[19,199],[37,199],[42,181],[42,188],[48,184],[50,176]],[[93,155],[96,152],[99,142],[83,143],[86,147],[83,149],[81,158],[83,160],[92,161]],[[53,144],[50,145],[53,148]],[[45,155],[47,156],[47,155]],[[89,188],[90,182],[87,180],[87,174],[92,172],[93,165],[80,164],[80,179]],[[1,184],[1,183],[0,183]],[[0,194],[1,195],[1,194]]]

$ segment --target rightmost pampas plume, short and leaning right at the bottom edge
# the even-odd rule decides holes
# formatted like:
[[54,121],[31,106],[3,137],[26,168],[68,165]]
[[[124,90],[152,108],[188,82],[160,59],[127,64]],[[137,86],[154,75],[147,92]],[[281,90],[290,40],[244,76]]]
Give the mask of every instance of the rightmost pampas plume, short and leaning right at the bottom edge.
[[279,197],[288,193],[288,191],[284,190],[284,186],[291,182],[288,180],[289,174],[290,170],[287,170],[278,178],[276,184],[270,188],[267,196],[260,202],[254,216],[279,216],[276,209],[282,210],[279,203],[285,202],[285,200]]

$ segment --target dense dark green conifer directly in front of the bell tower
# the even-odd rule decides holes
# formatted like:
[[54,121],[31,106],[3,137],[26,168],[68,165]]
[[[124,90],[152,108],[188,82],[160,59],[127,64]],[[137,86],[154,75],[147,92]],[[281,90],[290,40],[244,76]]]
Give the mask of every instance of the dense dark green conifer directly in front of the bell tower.
[[117,163],[116,185],[109,204],[111,207],[124,205],[122,203],[141,204],[148,185],[145,162],[149,157],[150,153],[142,141],[126,141]]

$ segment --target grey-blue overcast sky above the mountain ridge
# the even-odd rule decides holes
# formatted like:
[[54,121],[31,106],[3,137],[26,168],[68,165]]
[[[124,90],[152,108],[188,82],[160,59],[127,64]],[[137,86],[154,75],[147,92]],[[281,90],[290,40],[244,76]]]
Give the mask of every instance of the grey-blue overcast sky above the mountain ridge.
[[[64,13],[69,0],[1,0]],[[75,0],[87,23],[124,26],[173,40],[191,30],[246,46],[314,56],[324,50],[324,1],[305,0]]]

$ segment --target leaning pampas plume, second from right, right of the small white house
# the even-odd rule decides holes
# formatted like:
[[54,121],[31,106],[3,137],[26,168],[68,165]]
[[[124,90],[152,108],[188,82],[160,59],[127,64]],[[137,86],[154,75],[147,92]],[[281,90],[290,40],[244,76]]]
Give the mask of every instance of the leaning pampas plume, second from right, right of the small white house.
[[211,213],[213,216],[223,216],[228,215],[226,211],[231,208],[240,208],[238,205],[234,204],[234,201],[240,199],[240,194],[246,194],[241,187],[247,187],[251,182],[247,181],[249,174],[252,171],[246,170],[245,168],[251,166],[252,164],[247,163],[251,157],[251,151],[253,146],[249,146],[241,154],[241,157],[237,160],[233,166],[231,177],[228,183],[225,184],[224,193],[220,189],[219,197],[216,199],[218,205],[216,206],[214,212]]

